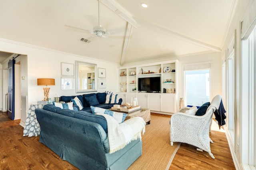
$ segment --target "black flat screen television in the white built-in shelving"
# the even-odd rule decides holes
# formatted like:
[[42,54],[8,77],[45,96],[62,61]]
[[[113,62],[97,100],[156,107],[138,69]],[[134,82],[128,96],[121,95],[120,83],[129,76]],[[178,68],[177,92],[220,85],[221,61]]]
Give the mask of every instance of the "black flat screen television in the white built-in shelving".
[[138,91],[160,92],[161,78],[160,77],[144,77],[138,78]]

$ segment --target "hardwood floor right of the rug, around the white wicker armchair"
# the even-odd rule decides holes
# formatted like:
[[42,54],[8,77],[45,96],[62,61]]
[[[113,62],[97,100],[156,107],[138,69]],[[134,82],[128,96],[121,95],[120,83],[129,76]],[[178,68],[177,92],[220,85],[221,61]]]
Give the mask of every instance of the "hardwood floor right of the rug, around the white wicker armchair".
[[[159,116],[170,117],[170,115]],[[169,170],[236,170],[225,131],[222,128],[219,129],[214,121],[210,138],[214,141],[210,145],[215,159],[212,159],[205,151],[200,152],[196,150],[196,147],[182,143]]]

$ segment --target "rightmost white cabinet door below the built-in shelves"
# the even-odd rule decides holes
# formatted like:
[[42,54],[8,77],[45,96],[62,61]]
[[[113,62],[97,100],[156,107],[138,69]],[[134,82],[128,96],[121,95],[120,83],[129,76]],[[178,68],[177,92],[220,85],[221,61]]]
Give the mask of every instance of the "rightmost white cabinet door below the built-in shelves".
[[161,94],[161,111],[175,113],[175,94]]

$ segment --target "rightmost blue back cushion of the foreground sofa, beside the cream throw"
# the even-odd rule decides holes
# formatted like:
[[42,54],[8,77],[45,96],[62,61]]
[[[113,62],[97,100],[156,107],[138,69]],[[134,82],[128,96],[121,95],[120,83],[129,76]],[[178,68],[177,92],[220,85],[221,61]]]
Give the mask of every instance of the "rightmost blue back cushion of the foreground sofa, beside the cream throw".
[[106,121],[105,117],[103,117],[101,115],[94,115],[94,114],[88,113],[86,111],[77,111],[76,113],[74,113],[74,117],[76,117],[77,119],[82,119],[82,120],[98,123],[102,126],[104,131],[106,133],[108,133],[107,121]]

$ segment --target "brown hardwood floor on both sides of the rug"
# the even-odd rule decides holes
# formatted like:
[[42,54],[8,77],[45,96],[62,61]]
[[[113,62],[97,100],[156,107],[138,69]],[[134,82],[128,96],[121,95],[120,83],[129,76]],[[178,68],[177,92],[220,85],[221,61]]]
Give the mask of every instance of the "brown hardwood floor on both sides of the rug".
[[[1,170],[77,170],[40,143],[39,136],[23,137],[23,127],[19,123],[20,120],[11,121],[6,112],[0,111]],[[214,141],[211,149],[215,159],[193,146],[182,144],[169,170],[235,170],[225,133],[212,130],[210,135]]]

